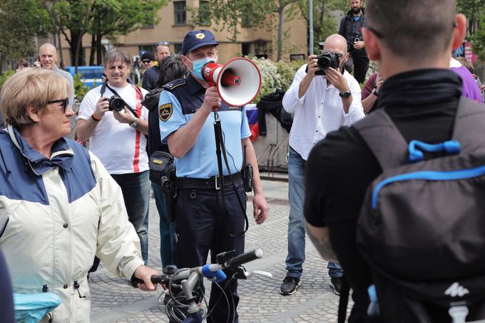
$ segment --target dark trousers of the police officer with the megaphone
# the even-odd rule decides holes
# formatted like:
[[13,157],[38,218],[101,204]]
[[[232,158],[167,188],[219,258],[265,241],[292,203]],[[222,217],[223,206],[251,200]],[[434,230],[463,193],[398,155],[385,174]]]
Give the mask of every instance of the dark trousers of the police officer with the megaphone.
[[[244,252],[244,235],[231,237],[228,234],[228,230],[231,233],[241,232],[245,226],[238,195],[245,210],[246,193],[242,181],[235,184],[237,193],[232,185],[224,188],[226,212],[223,212],[221,191],[184,188],[178,190],[174,255],[178,268],[205,265],[209,250],[212,263],[215,263],[215,256],[220,252],[235,250],[237,255]],[[228,296],[229,307],[220,288],[214,283],[211,287],[209,311],[214,311],[208,317],[209,323],[226,322],[228,317],[229,322],[238,322],[238,282],[229,282],[229,278],[221,284]]]

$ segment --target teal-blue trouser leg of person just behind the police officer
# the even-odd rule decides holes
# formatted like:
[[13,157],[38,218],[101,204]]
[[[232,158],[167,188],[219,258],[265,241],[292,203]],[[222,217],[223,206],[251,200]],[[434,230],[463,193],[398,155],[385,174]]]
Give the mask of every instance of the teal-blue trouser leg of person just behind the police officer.
[[160,259],[162,266],[173,265],[173,249],[175,247],[175,223],[170,223],[167,218],[165,196],[160,184],[152,183],[155,204],[160,216]]

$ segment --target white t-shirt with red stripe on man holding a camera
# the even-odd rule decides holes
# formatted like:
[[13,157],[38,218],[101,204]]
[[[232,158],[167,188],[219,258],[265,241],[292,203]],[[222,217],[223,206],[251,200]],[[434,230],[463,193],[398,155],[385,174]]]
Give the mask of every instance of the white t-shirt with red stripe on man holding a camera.
[[[135,86],[128,84],[123,88],[111,86],[123,100],[136,111],[137,97]],[[141,89],[144,97],[148,91]],[[110,98],[113,93],[106,88],[104,97]],[[141,98],[143,100],[143,97]],[[89,91],[79,106],[76,119],[88,120],[96,110],[96,103],[101,98],[101,86]],[[137,111],[138,113],[138,111]],[[148,109],[141,109],[142,120],[148,120]],[[148,170],[146,153],[146,136],[131,128],[127,123],[119,123],[113,111],[107,111],[89,138],[89,149],[103,163],[110,174],[139,173]]]

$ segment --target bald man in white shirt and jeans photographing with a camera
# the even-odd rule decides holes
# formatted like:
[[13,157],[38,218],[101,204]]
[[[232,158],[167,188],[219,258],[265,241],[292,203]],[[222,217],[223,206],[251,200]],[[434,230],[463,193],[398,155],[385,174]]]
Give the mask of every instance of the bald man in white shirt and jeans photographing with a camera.
[[[300,287],[305,261],[303,202],[305,163],[310,150],[330,131],[364,118],[359,83],[343,67],[349,58],[347,41],[338,34],[331,35],[325,40],[323,51],[325,55],[333,57],[335,68],[327,67],[322,71],[317,66],[317,56],[309,56],[308,63],[297,71],[290,89],[283,97],[283,108],[295,113],[288,159],[290,222],[287,274],[281,285],[283,295],[295,294]],[[328,268],[332,287],[338,294],[342,280],[341,267],[330,262]]]

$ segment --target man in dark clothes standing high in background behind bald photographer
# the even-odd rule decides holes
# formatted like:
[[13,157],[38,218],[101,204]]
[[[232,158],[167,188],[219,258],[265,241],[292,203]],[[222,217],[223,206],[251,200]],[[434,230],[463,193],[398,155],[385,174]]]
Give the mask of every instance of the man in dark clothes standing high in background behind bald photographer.
[[369,57],[365,52],[365,43],[362,39],[362,28],[365,26],[365,11],[361,0],[350,0],[350,11],[340,21],[339,34],[347,39],[349,60],[345,69],[352,71],[354,65],[354,78],[364,83],[365,75],[369,69]]

